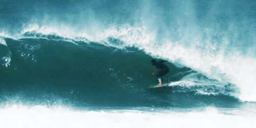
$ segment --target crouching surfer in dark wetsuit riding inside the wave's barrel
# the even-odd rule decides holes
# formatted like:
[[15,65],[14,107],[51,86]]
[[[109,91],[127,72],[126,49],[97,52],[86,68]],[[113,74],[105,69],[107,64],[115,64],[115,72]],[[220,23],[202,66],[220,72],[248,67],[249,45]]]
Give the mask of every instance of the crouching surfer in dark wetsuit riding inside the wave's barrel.
[[[158,73],[157,79],[159,83],[157,84],[157,86],[162,86],[161,77],[169,72],[169,68],[166,65],[164,65],[163,62],[165,61],[164,60],[156,61],[155,59],[151,60],[151,65],[156,66],[157,68],[157,71],[152,73],[152,75],[156,75]],[[167,82],[170,82],[170,81],[167,79]]]

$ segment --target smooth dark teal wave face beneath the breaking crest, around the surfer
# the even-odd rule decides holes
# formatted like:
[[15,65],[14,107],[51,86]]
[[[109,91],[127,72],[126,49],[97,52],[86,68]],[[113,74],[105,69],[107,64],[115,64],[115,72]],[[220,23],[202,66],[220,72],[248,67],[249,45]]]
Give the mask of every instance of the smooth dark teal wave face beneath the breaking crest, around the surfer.
[[[11,54],[11,61],[0,73],[2,104],[183,108],[238,103],[233,84],[172,63],[167,63],[172,69],[167,77],[193,83],[147,89],[157,83],[151,75],[156,69],[151,66],[152,57],[136,48],[55,38],[61,37],[5,39],[8,47],[3,51]],[[112,44],[118,43],[112,39]]]

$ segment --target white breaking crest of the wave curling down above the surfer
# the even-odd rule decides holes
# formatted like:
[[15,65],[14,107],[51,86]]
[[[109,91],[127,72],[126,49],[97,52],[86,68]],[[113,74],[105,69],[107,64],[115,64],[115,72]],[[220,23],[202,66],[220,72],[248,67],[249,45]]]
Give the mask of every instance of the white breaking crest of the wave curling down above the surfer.
[[[32,27],[34,28],[34,27]],[[29,29],[33,30],[33,29]],[[41,33],[37,33],[37,31]],[[250,61],[251,64],[253,64],[253,58],[248,59],[248,58],[239,58],[239,56],[236,56],[236,60],[231,56],[229,57],[229,61],[224,60],[224,56],[222,55],[217,55],[217,56],[212,56],[212,55],[205,55],[204,52],[200,53],[200,50],[197,49],[191,49],[191,48],[185,48],[180,45],[173,45],[174,43],[170,43],[167,45],[158,45],[154,44],[152,41],[153,39],[151,35],[147,35],[145,30],[143,28],[123,28],[123,29],[114,29],[111,28],[109,31],[105,31],[104,37],[98,38],[95,41],[91,41],[86,37],[72,37],[72,36],[66,36],[62,37],[58,35],[58,33],[53,33],[50,32],[51,34],[46,34],[49,33],[49,31],[44,32],[42,30],[38,30],[38,27],[36,27],[35,30],[29,31],[29,32],[24,32],[22,35],[20,35],[20,39],[26,40],[26,39],[47,39],[47,40],[52,40],[52,41],[67,41],[67,42],[72,42],[75,45],[78,46],[84,46],[84,44],[100,44],[106,47],[114,47],[118,48],[121,50],[129,49],[129,48],[136,48],[138,50],[144,51],[146,54],[151,55],[156,58],[161,58],[161,59],[167,59],[168,61],[174,63],[178,67],[189,67],[193,70],[199,71],[201,74],[209,77],[209,78],[214,78],[219,81],[222,81],[223,83],[221,85],[225,85],[227,82],[231,82],[236,84],[239,87],[240,93],[237,91],[237,93],[233,93],[232,95],[235,97],[239,97],[241,100],[243,100],[243,96],[245,95],[250,95],[249,93],[244,94],[244,91],[248,91],[248,88],[250,90],[248,92],[251,92],[253,88],[251,88],[251,84],[247,84],[248,86],[243,86],[240,87],[240,84],[238,82],[239,79],[237,77],[234,77],[233,75],[238,75],[238,73],[233,73],[237,72],[235,69],[230,67],[229,65],[230,62],[232,62],[233,67],[237,66],[237,69],[244,69],[247,67],[248,61]],[[108,34],[110,33],[110,34]],[[20,40],[19,39],[19,40]],[[92,38],[91,38],[92,39]],[[97,42],[98,41],[98,42]],[[38,46],[39,43],[37,44]],[[32,46],[32,49],[37,49],[37,46]],[[40,48],[38,48],[40,49]],[[158,50],[161,49],[161,50]],[[188,50],[187,50],[188,49]],[[114,50],[115,51],[115,50]],[[193,53],[191,53],[193,52]],[[11,53],[11,52],[10,52]],[[22,54],[22,53],[19,53]],[[205,55],[204,57],[202,57]],[[10,56],[10,54],[9,54]],[[219,57],[222,56],[222,57]],[[227,55],[226,57],[228,57]],[[225,57],[225,58],[226,58]],[[6,58],[6,57],[5,57]],[[7,56],[8,58],[8,56]],[[4,65],[8,66],[10,65],[10,58],[6,59],[6,63]],[[32,57],[34,59],[34,57]],[[192,59],[193,58],[193,59]],[[199,60],[200,58],[200,60]],[[231,60],[230,60],[231,59]],[[246,60],[244,60],[246,59]],[[246,62],[245,65],[241,65],[243,62],[238,63],[237,61],[244,60]],[[146,60],[145,60],[146,61]],[[206,65],[207,64],[207,65]],[[238,67],[238,65],[240,67]],[[251,71],[253,71],[252,68],[250,68]],[[247,71],[246,76],[247,79],[249,79],[250,75],[253,75],[254,73],[251,73],[251,71]],[[232,74],[233,73],[233,74]],[[243,72],[242,72],[243,73]],[[241,75],[241,74],[239,74]],[[229,77],[234,77],[236,79],[231,79]],[[129,78],[128,78],[129,79]],[[240,78],[242,79],[242,78]],[[235,82],[234,82],[235,81]],[[204,81],[205,82],[205,81]],[[244,81],[243,80],[243,85],[244,83],[251,82],[251,81]],[[205,92],[201,92],[205,93]],[[208,93],[205,93],[208,94]],[[212,93],[214,94],[214,93]],[[223,93],[224,94],[224,93]],[[250,101],[250,100],[249,100]]]

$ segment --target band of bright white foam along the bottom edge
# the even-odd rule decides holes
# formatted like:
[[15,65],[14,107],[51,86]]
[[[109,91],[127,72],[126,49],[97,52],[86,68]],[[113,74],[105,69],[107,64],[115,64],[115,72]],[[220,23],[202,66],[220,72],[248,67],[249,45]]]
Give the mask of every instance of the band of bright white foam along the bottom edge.
[[0,109],[0,126],[34,127],[255,127],[255,115],[227,115],[214,108],[191,112],[74,111],[13,105]]

